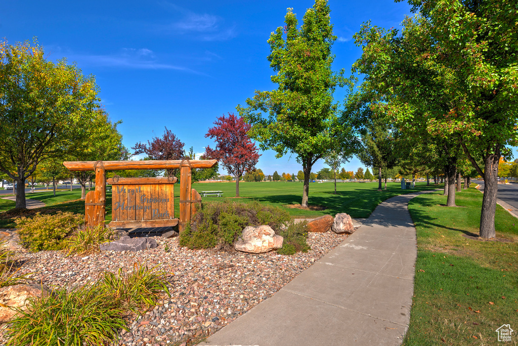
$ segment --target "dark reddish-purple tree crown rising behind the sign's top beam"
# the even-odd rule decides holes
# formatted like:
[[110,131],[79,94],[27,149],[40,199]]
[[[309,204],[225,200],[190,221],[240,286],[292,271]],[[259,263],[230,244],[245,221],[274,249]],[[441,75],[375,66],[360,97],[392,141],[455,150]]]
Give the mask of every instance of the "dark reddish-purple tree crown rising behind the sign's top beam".
[[[184,156],[184,143],[176,138],[171,130],[165,128],[162,138],[153,137],[153,140],[148,144],[138,142],[135,147],[132,147],[135,152],[133,155],[146,154],[151,160],[181,160]],[[174,176],[176,171],[168,169],[167,174]]]

